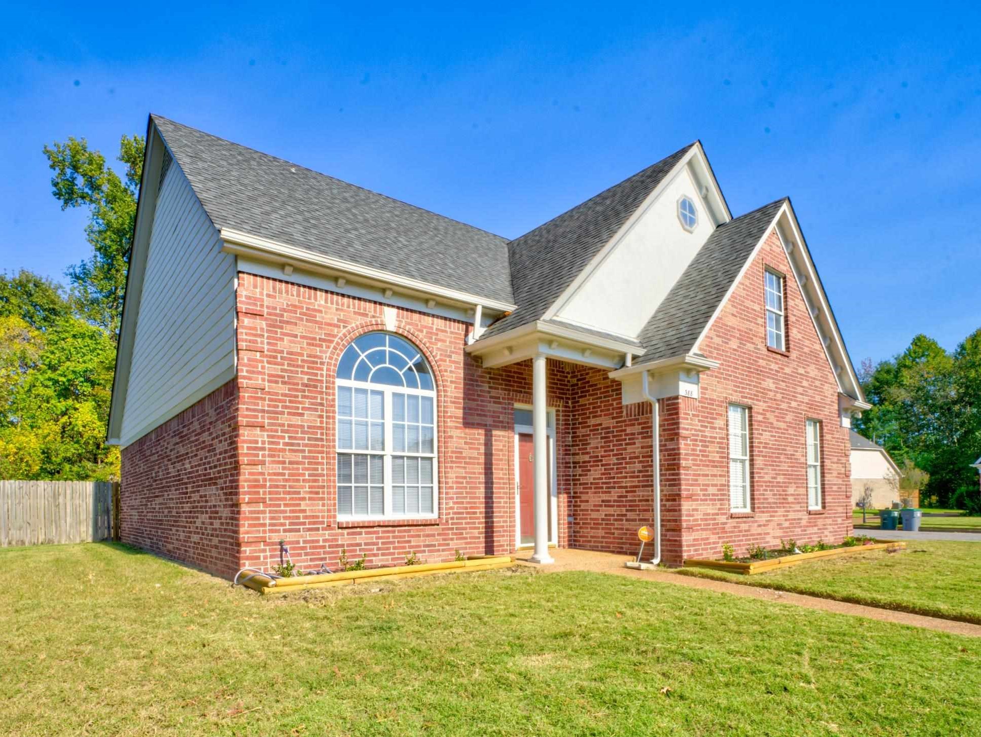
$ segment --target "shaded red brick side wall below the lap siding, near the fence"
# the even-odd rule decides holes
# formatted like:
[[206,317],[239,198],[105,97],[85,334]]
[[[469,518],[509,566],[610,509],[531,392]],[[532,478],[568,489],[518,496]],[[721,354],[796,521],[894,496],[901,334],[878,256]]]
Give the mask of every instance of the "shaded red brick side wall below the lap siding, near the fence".
[[123,542],[231,577],[238,564],[235,382],[123,450]]

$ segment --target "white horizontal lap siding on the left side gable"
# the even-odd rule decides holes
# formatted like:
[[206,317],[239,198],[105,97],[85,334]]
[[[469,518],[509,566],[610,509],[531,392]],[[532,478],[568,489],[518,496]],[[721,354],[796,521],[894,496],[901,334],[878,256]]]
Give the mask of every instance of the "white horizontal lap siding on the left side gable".
[[235,259],[222,253],[174,162],[157,198],[136,320],[121,444],[234,375]]

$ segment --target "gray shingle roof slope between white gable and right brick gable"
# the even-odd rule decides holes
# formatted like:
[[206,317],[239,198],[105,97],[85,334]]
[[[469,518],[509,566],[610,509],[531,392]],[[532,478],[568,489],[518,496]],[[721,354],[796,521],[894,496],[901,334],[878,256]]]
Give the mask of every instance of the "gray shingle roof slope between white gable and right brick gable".
[[715,228],[647,320],[640,335],[647,350],[635,359],[635,366],[681,356],[695,348],[701,331],[785,201],[771,202]]

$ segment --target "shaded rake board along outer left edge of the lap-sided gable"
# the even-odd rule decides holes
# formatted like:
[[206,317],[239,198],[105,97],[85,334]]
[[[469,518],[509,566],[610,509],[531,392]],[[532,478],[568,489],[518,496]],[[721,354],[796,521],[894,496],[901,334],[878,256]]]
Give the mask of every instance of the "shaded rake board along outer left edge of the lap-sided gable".
[[[123,295],[123,316],[120,319],[119,345],[116,367],[113,371],[113,393],[109,403],[109,421],[106,426],[106,443],[122,445],[123,413],[129,389],[129,368],[132,363],[133,341],[136,338],[136,320],[143,292],[143,275],[146,256],[153,231],[153,218],[157,210],[157,194],[160,186],[160,167],[167,145],[157,126],[147,122],[146,146],[143,150],[143,175],[139,182],[139,199],[136,202],[136,220],[133,225],[132,247],[129,250],[126,291]],[[171,166],[178,166],[175,159]]]

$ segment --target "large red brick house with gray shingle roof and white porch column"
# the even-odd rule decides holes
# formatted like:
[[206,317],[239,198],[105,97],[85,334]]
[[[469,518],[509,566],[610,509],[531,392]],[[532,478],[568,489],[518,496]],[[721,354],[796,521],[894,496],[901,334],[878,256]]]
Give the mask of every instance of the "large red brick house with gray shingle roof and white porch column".
[[231,575],[281,540],[838,542],[867,407],[790,200],[734,219],[699,143],[508,240],[148,123],[109,423],[133,545]]

